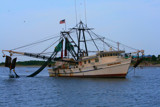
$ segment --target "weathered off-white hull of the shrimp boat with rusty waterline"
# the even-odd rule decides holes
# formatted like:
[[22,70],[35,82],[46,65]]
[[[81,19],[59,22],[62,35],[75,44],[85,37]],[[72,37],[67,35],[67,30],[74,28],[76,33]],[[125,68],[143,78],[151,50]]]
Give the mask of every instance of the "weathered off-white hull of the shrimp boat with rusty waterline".
[[94,67],[85,67],[81,70],[75,69],[61,69],[54,71],[48,69],[50,77],[126,77],[131,60],[124,61],[115,65],[99,65]]

